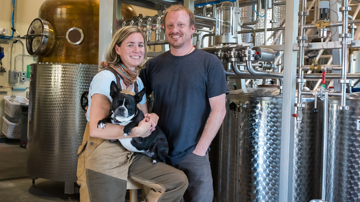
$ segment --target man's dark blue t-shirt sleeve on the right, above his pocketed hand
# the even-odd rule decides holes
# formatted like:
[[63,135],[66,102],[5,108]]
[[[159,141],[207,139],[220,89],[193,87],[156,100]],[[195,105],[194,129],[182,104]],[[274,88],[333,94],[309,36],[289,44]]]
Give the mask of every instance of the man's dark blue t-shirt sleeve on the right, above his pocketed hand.
[[216,61],[214,65],[208,69],[207,83],[208,97],[216,97],[221,94],[229,94],[229,87],[226,82],[224,66],[221,61]]

